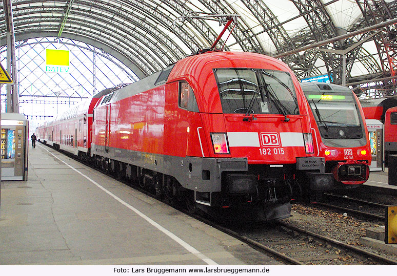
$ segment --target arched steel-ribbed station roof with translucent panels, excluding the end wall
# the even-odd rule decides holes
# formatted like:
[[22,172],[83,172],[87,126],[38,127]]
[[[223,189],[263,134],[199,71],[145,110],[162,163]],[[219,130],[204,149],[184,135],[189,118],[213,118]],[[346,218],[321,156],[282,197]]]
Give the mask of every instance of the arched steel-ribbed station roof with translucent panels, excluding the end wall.
[[[238,14],[221,39],[229,51],[283,57],[298,78],[332,74],[340,83],[348,49],[347,83],[393,74],[397,61],[395,25],[333,41],[323,50],[300,48],[385,22],[397,16],[390,0],[12,0],[15,40],[55,36],[83,41],[113,55],[138,77],[166,68],[208,48],[224,17]],[[6,44],[4,2],[0,2],[0,46]],[[201,16],[197,18],[197,16]],[[226,37],[231,35],[226,41]],[[352,47],[356,45],[356,47]],[[324,50],[325,49],[325,50]],[[332,52],[332,51],[335,51]]]

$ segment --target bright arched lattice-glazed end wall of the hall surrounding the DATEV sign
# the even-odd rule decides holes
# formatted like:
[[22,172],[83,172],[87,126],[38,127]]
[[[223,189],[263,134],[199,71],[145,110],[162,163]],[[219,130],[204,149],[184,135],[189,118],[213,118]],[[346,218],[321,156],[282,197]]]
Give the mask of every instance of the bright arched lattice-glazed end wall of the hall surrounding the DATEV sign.
[[[25,115],[52,116],[105,88],[138,79],[122,62],[100,49],[71,39],[63,38],[62,43],[54,40],[57,39],[32,38],[17,43],[19,111]],[[68,74],[48,71],[46,49],[70,50]],[[6,47],[0,48],[2,63],[5,54]],[[2,87],[3,94],[5,88]],[[63,104],[57,105],[57,102]],[[4,103],[2,105],[5,110]]]

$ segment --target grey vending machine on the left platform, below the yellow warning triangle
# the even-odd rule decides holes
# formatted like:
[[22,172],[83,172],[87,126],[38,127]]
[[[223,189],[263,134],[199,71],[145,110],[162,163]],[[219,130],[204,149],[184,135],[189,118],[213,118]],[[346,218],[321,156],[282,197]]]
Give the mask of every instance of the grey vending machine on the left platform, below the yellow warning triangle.
[[2,113],[2,180],[28,180],[28,130],[23,114]]

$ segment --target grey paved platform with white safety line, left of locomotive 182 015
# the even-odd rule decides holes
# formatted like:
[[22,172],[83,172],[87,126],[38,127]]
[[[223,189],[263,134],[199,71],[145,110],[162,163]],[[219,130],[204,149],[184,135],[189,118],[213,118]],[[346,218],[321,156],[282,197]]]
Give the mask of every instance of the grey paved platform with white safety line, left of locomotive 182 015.
[[1,197],[0,265],[280,264],[41,144]]

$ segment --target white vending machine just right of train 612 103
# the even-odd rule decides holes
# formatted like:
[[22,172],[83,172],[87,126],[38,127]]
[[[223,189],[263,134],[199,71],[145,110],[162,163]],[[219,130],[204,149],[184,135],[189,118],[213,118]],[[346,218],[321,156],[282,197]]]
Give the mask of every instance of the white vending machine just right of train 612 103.
[[384,125],[380,120],[366,119],[368,138],[371,143],[372,161],[369,166],[370,171],[385,170],[385,138]]

